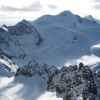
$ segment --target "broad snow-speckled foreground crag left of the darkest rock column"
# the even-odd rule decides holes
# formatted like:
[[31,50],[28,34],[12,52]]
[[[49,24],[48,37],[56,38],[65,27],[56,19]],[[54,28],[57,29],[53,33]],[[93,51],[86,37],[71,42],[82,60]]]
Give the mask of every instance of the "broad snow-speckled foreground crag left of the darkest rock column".
[[63,66],[50,77],[47,90],[55,88],[58,95],[64,94],[64,100],[77,100],[85,86],[82,70],[77,66]]

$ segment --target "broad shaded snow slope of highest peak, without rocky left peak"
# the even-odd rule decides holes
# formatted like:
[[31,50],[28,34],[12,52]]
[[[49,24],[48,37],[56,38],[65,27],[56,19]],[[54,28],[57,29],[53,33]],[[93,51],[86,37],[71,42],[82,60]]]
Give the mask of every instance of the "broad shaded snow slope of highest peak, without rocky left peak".
[[91,56],[91,47],[100,43],[100,25],[70,11],[44,15],[30,23],[43,37],[36,57],[40,63],[63,66],[68,60]]

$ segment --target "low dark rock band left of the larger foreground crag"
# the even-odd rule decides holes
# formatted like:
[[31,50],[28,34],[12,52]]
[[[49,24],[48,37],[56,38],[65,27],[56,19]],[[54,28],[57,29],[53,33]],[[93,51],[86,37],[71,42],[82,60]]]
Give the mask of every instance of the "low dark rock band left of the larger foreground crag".
[[19,67],[15,76],[24,75],[26,77],[32,77],[34,75],[39,75],[48,81],[49,77],[57,70],[56,67],[48,66],[47,64],[38,65],[38,63],[33,60],[24,67]]

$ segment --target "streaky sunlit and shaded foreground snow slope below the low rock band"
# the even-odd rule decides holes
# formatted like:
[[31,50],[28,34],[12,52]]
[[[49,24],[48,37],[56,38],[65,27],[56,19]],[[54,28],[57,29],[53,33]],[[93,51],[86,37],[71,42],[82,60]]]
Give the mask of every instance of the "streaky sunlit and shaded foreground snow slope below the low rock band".
[[[1,81],[0,100],[62,100],[56,97],[56,93],[46,92],[46,81],[40,76],[2,78]],[[2,95],[9,99],[2,99]]]

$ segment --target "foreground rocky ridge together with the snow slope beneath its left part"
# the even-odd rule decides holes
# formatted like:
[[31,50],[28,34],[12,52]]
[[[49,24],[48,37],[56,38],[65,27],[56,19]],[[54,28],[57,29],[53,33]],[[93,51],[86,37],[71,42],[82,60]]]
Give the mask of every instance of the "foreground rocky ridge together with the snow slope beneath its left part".
[[99,81],[100,70],[92,72],[82,63],[58,69],[33,60],[15,77],[2,77],[0,93],[10,100],[99,100]]

